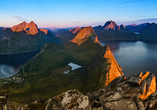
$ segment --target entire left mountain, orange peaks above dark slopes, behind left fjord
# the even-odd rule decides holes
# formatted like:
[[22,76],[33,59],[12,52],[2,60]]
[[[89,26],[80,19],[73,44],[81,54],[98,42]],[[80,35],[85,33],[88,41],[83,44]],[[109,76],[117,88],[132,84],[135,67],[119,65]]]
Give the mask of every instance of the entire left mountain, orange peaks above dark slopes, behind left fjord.
[[46,29],[38,29],[33,21],[22,22],[11,28],[0,28],[0,33],[1,54],[40,50],[48,42],[61,44],[53,33]]

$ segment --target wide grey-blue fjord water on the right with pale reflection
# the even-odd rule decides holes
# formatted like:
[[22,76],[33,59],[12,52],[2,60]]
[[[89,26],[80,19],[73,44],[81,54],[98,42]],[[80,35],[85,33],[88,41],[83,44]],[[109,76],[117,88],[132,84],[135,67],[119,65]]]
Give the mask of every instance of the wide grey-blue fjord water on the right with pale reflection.
[[157,44],[136,42],[108,41],[100,42],[108,45],[116,61],[122,67],[126,77],[141,71],[155,73],[157,76]]

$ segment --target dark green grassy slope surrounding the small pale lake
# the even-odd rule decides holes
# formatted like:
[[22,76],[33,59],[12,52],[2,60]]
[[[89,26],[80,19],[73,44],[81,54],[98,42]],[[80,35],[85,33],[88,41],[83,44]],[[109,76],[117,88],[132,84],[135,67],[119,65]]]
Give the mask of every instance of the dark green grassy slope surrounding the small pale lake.
[[[47,100],[69,89],[81,92],[95,91],[103,86],[106,73],[106,59],[100,57],[105,47],[86,41],[81,45],[74,43],[46,44],[39,53],[24,67],[21,74],[24,81],[1,86],[12,101],[30,103],[38,98]],[[83,67],[69,74],[63,72],[74,62]],[[20,71],[22,73],[22,70]],[[100,84],[101,83],[101,84]]]

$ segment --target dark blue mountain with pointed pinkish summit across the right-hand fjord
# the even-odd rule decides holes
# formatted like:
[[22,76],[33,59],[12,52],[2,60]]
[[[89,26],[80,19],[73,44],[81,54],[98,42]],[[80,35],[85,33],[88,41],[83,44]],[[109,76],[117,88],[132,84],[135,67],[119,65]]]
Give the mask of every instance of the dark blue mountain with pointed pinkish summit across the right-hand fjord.
[[104,26],[93,27],[100,41],[105,40],[137,40],[138,36],[124,25],[118,26],[114,21],[108,21]]

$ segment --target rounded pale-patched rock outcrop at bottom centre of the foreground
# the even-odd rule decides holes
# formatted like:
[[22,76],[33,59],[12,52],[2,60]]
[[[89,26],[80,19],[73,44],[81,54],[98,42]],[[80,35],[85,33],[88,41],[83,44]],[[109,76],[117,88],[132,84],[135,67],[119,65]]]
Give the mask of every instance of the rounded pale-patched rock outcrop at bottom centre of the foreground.
[[78,90],[69,90],[46,102],[45,110],[68,110],[85,109],[90,110],[91,105],[88,96],[80,93]]

